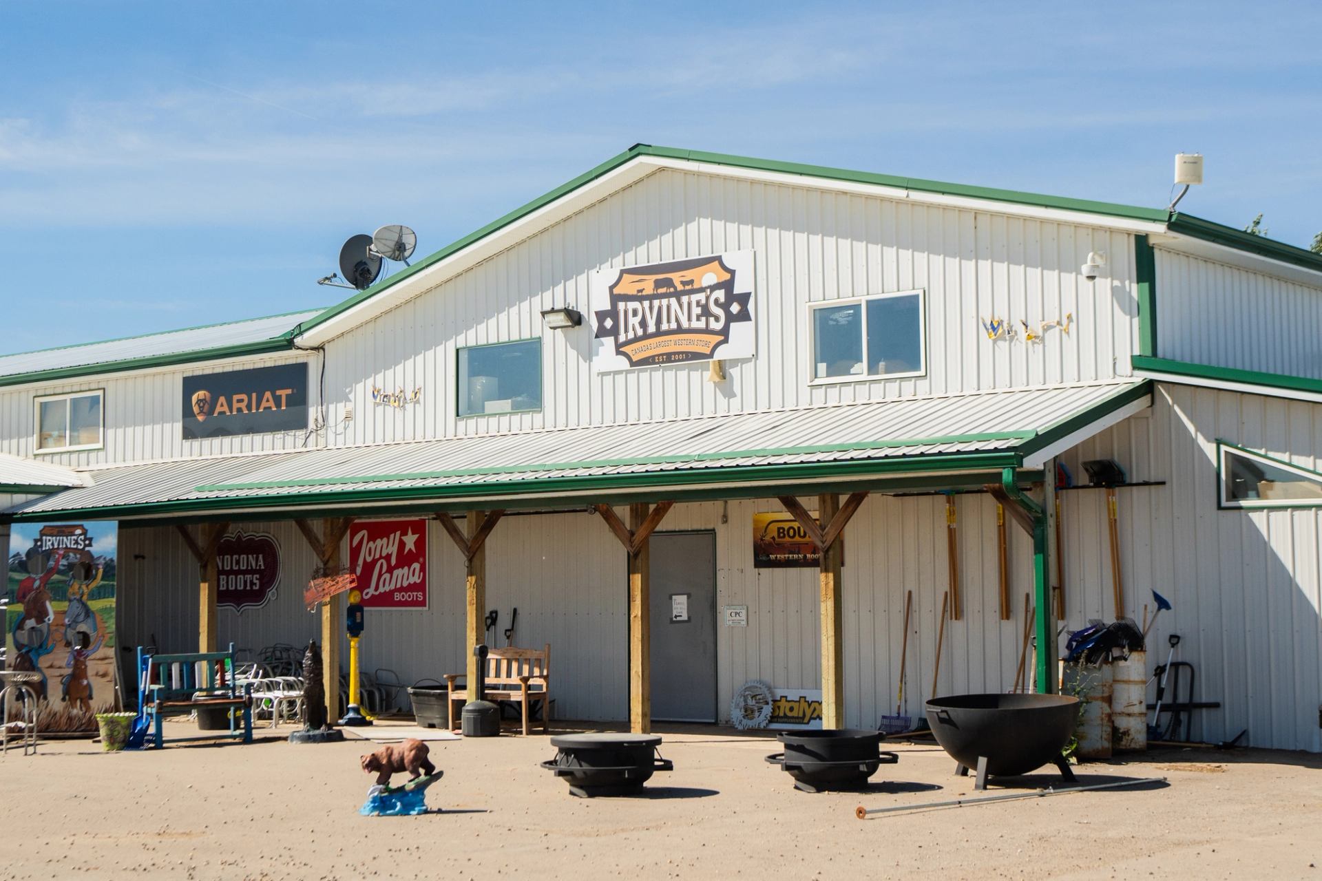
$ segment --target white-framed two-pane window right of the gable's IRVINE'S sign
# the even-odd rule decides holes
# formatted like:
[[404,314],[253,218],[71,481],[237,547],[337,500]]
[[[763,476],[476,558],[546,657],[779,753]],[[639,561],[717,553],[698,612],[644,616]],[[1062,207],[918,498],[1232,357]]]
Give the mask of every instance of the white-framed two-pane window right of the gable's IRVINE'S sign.
[[927,292],[896,291],[808,305],[812,383],[927,372]]

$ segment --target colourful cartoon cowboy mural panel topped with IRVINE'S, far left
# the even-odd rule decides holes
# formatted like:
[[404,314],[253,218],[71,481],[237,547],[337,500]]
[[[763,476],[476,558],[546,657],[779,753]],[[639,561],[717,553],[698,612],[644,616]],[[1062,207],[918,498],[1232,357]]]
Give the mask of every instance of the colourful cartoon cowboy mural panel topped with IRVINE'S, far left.
[[9,535],[9,670],[38,676],[38,732],[95,730],[115,709],[116,523],[21,523]]

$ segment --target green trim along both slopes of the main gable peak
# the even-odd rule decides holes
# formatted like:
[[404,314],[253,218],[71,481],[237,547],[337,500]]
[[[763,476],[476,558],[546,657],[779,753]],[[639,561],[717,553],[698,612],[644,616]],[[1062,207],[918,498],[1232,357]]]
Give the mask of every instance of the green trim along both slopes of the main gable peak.
[[382,291],[393,288],[401,281],[422,272],[427,267],[431,267],[440,260],[467,248],[468,246],[485,239],[502,230],[504,227],[520,221],[533,211],[554,202],[555,199],[568,195],[574,190],[591,184],[599,177],[613,172],[615,169],[632,162],[633,160],[642,156],[654,156],[658,159],[676,159],[686,160],[693,162],[707,162],[711,165],[726,165],[730,168],[743,168],[756,172],[776,172],[781,174],[800,174],[804,177],[829,180],[829,181],[845,181],[850,184],[873,184],[876,186],[890,186],[904,190],[916,190],[920,193],[939,193],[943,195],[961,195],[966,198],[989,199],[995,202],[1009,202],[1011,205],[1031,205],[1035,207],[1050,207],[1066,211],[1084,211],[1088,214],[1103,214],[1108,217],[1121,217],[1136,221],[1150,221],[1155,223],[1165,223],[1169,217],[1167,211],[1146,207],[1136,207],[1133,205],[1117,205],[1114,202],[1093,202],[1091,199],[1073,199],[1060,195],[1044,195],[1040,193],[1022,193],[1018,190],[1002,190],[988,186],[970,186],[968,184],[947,184],[944,181],[929,181],[919,177],[896,177],[894,174],[875,174],[871,172],[857,172],[842,168],[829,168],[825,165],[805,165],[801,162],[777,162],[775,160],[765,159],[751,159],[747,156],[731,156],[727,153],[707,153],[703,151],[689,151],[689,149],[676,149],[673,147],[652,147],[650,144],[635,144],[629,149],[612,156],[596,168],[579,174],[574,180],[557,186],[550,193],[537,197],[531,202],[522,205],[509,214],[497,218],[488,223],[486,226],[469,232],[461,239],[451,242],[435,254],[423,258],[422,260],[414,263],[407,269],[397,272],[395,275],[378,281],[377,284],[353,295],[348,300],[330,306],[321,314],[303,322],[295,328],[291,334],[299,335],[304,334],[313,328],[317,328],[327,321],[334,318],[336,316],[352,309],[353,306],[370,300]]

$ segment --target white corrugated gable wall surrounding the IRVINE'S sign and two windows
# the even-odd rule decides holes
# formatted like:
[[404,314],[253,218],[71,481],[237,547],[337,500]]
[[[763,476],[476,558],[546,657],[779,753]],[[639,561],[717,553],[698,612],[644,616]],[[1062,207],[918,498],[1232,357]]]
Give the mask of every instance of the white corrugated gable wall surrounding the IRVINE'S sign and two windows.
[[[756,251],[758,357],[728,363],[726,383],[706,365],[594,376],[587,328],[542,328],[542,309],[588,313],[596,268],[743,248]],[[1109,279],[1077,275],[1089,251],[1108,254]],[[330,442],[1107,379],[1128,374],[1137,337],[1132,255],[1132,236],[1092,227],[658,172],[330,341],[332,421],[354,408]],[[809,301],[911,288],[928,289],[927,376],[809,387]],[[1066,313],[1069,334],[1040,345],[993,342],[980,324]],[[527,337],[543,341],[543,409],[456,417],[456,350]],[[374,407],[373,386],[420,387],[422,403]]]

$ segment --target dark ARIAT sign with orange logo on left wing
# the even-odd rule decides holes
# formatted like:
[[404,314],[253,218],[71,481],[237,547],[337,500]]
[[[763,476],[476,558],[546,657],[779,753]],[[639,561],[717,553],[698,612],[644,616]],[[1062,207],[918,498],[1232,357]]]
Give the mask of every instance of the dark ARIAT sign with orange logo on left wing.
[[305,431],[308,366],[184,376],[184,440]]

